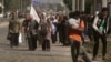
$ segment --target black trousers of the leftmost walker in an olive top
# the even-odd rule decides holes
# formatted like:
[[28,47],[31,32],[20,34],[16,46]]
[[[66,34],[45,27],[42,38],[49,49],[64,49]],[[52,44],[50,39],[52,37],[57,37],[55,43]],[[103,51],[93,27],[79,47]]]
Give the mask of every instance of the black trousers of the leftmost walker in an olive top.
[[11,33],[10,45],[19,46],[19,33]]

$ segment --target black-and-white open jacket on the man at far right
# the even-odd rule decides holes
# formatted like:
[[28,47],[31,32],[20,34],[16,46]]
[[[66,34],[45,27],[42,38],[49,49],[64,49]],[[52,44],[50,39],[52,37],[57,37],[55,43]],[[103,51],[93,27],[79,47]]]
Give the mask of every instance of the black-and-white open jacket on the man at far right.
[[[103,22],[104,20],[104,22]],[[103,24],[102,24],[103,23]],[[95,16],[93,24],[92,24],[94,31],[102,31],[102,33],[107,33],[109,29],[109,18],[103,18],[102,16]],[[103,30],[100,30],[100,27],[103,28]]]

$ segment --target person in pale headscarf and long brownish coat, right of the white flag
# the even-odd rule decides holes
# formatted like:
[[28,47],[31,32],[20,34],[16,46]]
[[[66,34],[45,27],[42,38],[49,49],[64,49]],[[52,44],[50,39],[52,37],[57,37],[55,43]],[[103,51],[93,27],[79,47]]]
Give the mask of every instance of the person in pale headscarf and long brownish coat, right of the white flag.
[[47,17],[47,13],[42,13],[41,21],[41,38],[42,38],[42,50],[50,51],[50,40],[51,40],[51,22],[50,19]]

